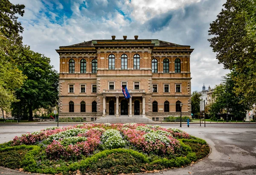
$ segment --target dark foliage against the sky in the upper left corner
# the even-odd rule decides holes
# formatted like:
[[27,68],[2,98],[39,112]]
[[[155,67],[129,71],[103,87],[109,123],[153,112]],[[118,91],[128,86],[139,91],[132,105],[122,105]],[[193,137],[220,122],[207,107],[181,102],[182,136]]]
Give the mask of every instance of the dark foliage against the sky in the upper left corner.
[[0,0],[0,32],[9,40],[14,40],[15,44],[22,43],[19,32],[23,32],[21,23],[17,21],[19,14],[23,17],[25,6],[23,4],[12,4],[9,0]]

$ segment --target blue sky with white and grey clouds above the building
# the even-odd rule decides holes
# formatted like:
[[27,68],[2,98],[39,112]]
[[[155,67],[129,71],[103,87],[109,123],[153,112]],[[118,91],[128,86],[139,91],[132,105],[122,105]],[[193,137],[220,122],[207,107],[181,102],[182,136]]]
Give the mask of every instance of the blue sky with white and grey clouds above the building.
[[10,0],[24,4],[23,44],[51,58],[59,71],[59,46],[88,40],[158,39],[190,45],[192,91],[213,88],[229,71],[218,64],[207,39],[209,23],[225,0]]

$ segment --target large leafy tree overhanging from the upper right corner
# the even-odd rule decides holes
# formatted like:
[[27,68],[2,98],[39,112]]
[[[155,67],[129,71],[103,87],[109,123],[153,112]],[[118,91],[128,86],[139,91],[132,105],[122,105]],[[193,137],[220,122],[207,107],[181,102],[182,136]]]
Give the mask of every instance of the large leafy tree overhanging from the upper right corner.
[[253,0],[227,0],[217,19],[210,24],[209,39],[216,58],[224,68],[236,76],[234,91],[241,93],[239,103],[256,103],[256,39],[255,2]]

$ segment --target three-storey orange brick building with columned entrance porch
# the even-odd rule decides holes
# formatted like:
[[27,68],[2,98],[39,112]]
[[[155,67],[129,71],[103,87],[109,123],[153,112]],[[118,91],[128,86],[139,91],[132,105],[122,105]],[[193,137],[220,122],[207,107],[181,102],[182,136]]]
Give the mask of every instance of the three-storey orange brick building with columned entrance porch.
[[[191,115],[189,45],[161,40],[91,40],[56,50],[60,117],[150,119]],[[122,87],[131,98],[125,99]],[[180,103],[183,103],[180,109]]]

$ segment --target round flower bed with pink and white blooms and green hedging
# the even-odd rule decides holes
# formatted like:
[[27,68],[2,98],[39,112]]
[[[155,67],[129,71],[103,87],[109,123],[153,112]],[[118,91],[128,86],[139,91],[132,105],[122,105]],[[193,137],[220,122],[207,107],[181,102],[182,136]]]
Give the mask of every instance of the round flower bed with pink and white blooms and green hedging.
[[[148,172],[185,166],[209,153],[200,138],[146,124],[49,127],[0,144],[0,155],[18,155],[21,150],[26,151],[19,155],[17,168],[45,174]],[[0,159],[0,166],[12,168],[14,158]]]

